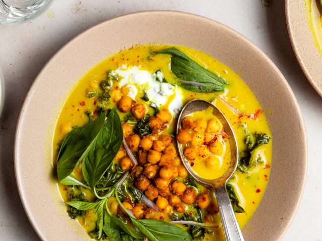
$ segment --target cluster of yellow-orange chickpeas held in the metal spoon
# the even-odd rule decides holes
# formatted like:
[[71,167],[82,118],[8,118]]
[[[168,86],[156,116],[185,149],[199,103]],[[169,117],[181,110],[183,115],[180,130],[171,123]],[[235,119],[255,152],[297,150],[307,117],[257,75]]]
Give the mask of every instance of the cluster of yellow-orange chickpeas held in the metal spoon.
[[[224,152],[222,144],[225,135],[220,121],[217,119],[186,117],[182,120],[177,140],[183,144],[184,156],[192,161],[199,160],[206,167],[218,169],[219,158]],[[193,164],[192,164],[193,165]]]

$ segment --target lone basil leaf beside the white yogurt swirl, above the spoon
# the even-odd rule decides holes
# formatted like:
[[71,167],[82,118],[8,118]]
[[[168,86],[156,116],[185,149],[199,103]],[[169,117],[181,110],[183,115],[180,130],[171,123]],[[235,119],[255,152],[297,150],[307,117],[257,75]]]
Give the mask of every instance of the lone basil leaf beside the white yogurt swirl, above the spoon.
[[205,69],[177,48],[166,48],[156,54],[171,55],[171,71],[180,79],[178,85],[187,90],[198,93],[215,92],[223,90],[223,84],[228,84],[226,80]]

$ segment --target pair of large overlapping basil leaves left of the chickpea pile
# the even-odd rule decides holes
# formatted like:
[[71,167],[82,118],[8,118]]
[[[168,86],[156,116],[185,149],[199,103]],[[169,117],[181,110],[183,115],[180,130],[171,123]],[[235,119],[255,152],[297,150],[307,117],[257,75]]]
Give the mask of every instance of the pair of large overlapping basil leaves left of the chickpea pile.
[[95,190],[123,140],[122,123],[116,110],[112,109],[105,119],[106,112],[67,133],[57,158],[57,176],[61,183],[71,179],[73,169],[83,161],[84,179]]

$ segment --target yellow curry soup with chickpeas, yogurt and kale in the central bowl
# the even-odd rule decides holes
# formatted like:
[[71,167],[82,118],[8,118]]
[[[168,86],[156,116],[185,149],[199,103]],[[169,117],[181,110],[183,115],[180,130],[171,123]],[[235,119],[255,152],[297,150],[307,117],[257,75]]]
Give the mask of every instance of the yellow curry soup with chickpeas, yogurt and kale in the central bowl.
[[[174,55],[158,54],[171,47],[212,71],[228,84],[223,84],[223,90],[216,92],[197,93],[184,89],[182,86],[185,82],[178,82],[180,80],[171,71]],[[108,237],[108,220],[105,220],[107,217],[110,220],[119,218],[127,223],[132,221],[134,226],[139,219],[178,221],[179,224],[175,226],[187,232],[191,239],[224,240],[213,191],[191,180],[174,146],[178,113],[185,103],[196,98],[213,102],[236,133],[241,159],[239,168],[229,180],[227,190],[239,225],[244,227],[251,219],[265,193],[271,165],[271,133],[260,103],[236,73],[205,53],[184,46],[137,45],[108,57],[82,77],[71,91],[56,122],[53,163],[59,169],[62,165],[61,152],[65,150],[66,139],[70,139],[71,133],[91,123],[93,126],[96,120],[102,119],[102,125],[112,120],[112,117],[115,120],[119,117],[120,120],[125,143],[119,140],[120,146],[107,172],[92,188],[86,184],[86,177],[84,178],[84,169],[86,170],[88,162],[85,162],[84,167],[83,159],[75,162],[77,166],[68,175],[72,178],[68,179],[65,175],[62,180],[57,181],[62,201],[71,205],[77,204],[80,208],[66,205],[69,216],[75,218],[90,237]],[[104,118],[99,118],[102,113],[108,115],[105,122]],[[197,115],[194,118],[202,116]],[[205,121],[211,120],[206,118]],[[116,132],[115,136],[119,134]],[[203,137],[206,138],[205,134]],[[228,162],[229,146],[222,136],[217,137],[217,143],[224,147],[224,151],[221,154],[216,153],[215,156]],[[137,164],[131,161],[127,148],[133,153]],[[118,179],[112,180],[108,172]],[[209,175],[210,172],[206,168],[199,168],[198,173]],[[119,184],[118,181],[126,174],[126,179]],[[105,188],[103,179],[112,180],[114,186]],[[76,185],[73,180],[82,184]],[[116,196],[113,190],[116,190]],[[142,202],[137,195],[143,195],[153,202],[158,210],[147,206],[150,202]],[[103,197],[108,198],[102,204],[104,226],[100,226],[98,220],[101,214],[95,208],[86,209],[81,202],[94,203],[94,206],[95,203],[104,203]],[[97,204],[97,208],[99,205]],[[130,210],[129,213],[127,210]],[[201,225],[192,229],[189,225],[180,224],[185,221],[206,223],[209,227]],[[126,232],[130,231],[118,227],[117,232],[129,235]]]

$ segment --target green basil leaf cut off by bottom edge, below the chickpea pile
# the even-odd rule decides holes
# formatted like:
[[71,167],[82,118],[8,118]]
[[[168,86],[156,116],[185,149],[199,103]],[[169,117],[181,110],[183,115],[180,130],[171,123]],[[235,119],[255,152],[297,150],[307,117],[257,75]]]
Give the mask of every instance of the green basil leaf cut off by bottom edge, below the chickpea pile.
[[131,218],[135,227],[151,241],[192,241],[191,236],[183,229],[154,219]]

